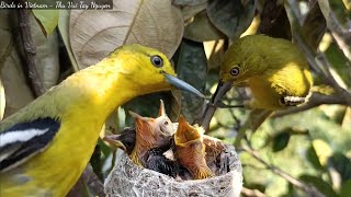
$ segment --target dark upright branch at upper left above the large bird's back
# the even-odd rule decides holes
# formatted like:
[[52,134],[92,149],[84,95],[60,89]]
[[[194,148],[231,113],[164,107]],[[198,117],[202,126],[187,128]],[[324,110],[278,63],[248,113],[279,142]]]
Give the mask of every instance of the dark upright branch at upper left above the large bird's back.
[[[21,0],[18,0],[21,2]],[[34,91],[35,96],[42,95],[45,90],[43,88],[43,83],[41,81],[39,74],[35,68],[34,57],[36,54],[36,47],[34,45],[30,20],[29,20],[29,12],[27,9],[18,9],[18,18],[19,18],[19,26],[20,26],[20,35],[22,38],[24,56],[25,56],[25,63],[23,63],[23,70],[27,71],[27,77],[30,79],[30,84],[32,90]]]

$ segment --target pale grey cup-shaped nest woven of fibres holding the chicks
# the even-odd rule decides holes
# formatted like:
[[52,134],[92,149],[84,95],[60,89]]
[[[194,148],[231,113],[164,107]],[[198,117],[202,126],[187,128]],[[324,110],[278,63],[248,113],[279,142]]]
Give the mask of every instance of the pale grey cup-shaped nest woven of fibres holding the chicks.
[[233,146],[226,146],[229,172],[206,179],[179,181],[168,175],[136,166],[122,153],[104,185],[106,196],[113,197],[182,197],[182,196],[239,196],[242,169]]

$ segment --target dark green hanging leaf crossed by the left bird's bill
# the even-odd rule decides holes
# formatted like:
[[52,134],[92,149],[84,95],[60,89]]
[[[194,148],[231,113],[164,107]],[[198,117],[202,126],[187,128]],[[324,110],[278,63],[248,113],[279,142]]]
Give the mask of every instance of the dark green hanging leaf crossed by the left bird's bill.
[[[203,92],[207,76],[207,59],[203,44],[183,39],[173,59],[178,78]],[[189,123],[199,120],[204,100],[188,92],[181,92],[181,94],[180,113]]]

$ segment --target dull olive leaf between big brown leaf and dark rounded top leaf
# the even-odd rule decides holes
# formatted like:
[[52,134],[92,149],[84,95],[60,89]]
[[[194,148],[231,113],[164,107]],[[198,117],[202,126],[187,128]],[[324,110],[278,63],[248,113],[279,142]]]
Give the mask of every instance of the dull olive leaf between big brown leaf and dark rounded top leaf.
[[224,38],[225,35],[210,22],[206,12],[201,12],[185,26],[184,37],[194,42],[204,42]]

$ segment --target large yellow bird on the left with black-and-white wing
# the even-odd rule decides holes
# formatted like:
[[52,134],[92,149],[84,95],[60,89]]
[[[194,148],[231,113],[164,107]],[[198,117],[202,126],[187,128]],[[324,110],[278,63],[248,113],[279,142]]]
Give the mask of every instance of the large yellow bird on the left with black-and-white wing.
[[0,196],[65,196],[117,106],[169,91],[171,84],[203,96],[173,76],[158,50],[123,46],[5,118],[0,125]]

